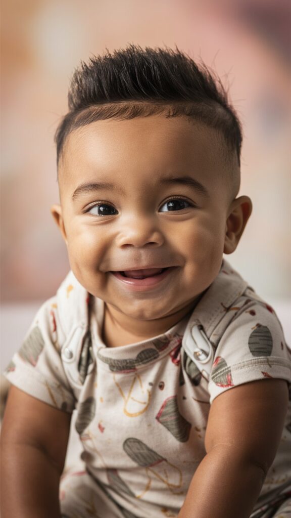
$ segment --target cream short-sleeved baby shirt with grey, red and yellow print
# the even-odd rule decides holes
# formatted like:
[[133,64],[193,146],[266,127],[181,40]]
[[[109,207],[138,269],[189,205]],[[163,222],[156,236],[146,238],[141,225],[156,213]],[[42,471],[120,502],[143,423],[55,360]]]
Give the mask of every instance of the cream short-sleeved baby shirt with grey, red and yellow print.
[[[38,311],[5,375],[49,405],[77,409],[86,472],[122,515],[177,516],[206,455],[214,398],[265,378],[287,380],[290,387],[291,355],[281,324],[226,261],[192,315],[166,333],[109,348],[101,338],[103,316],[104,301],[90,296],[70,272]],[[212,346],[205,369],[184,346],[193,323]],[[274,498],[288,481],[290,401],[259,502]]]

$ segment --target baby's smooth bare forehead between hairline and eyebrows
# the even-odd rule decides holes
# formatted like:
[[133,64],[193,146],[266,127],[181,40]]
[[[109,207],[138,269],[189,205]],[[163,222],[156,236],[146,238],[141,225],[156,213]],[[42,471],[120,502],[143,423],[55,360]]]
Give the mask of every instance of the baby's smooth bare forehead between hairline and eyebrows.
[[226,145],[217,131],[186,117],[162,115],[126,120],[100,120],[73,131],[59,165],[62,188],[80,180],[124,180],[134,174],[161,176],[165,172],[194,172],[217,176],[226,168]]

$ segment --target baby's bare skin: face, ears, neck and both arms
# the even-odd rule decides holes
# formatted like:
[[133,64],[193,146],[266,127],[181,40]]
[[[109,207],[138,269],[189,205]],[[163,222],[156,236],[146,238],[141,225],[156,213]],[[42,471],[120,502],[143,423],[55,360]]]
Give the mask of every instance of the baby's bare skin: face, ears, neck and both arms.
[[[61,205],[52,214],[75,276],[105,300],[107,346],[169,329],[213,282],[223,252],[236,249],[252,205],[247,196],[236,198],[238,166],[224,156],[215,131],[184,118],[98,121],[68,137],[59,170]],[[208,195],[187,185],[158,185],[169,175],[191,176]],[[110,181],[124,193],[95,190],[72,200],[81,183],[97,181]],[[193,206],[168,211],[173,196]],[[98,202],[113,211],[98,215],[92,208]],[[110,273],[149,263],[176,269],[166,282],[139,293]],[[250,516],[278,449],[287,402],[287,384],[280,379],[245,383],[214,399],[207,454],[178,518]],[[3,518],[60,518],[69,429],[69,414],[11,387],[1,434]]]

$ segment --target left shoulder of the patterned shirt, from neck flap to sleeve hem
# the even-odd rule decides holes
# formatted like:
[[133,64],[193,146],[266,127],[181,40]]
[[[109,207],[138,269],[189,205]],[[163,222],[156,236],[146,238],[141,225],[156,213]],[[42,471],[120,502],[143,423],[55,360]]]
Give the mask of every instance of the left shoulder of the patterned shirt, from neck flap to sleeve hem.
[[[75,369],[79,375],[74,362],[88,329],[87,297],[86,290],[70,272],[56,294],[37,311],[5,372],[20,390],[61,410],[71,411],[75,406],[69,369]],[[69,358],[68,344],[75,353],[73,356],[70,351]]]

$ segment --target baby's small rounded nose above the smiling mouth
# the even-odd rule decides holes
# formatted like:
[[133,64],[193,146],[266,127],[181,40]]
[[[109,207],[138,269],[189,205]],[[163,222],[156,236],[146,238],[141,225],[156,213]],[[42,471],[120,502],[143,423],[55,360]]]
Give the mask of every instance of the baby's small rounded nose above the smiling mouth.
[[163,243],[164,236],[155,218],[147,218],[144,215],[124,221],[117,237],[119,247],[158,247]]

